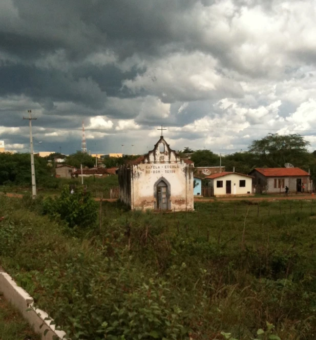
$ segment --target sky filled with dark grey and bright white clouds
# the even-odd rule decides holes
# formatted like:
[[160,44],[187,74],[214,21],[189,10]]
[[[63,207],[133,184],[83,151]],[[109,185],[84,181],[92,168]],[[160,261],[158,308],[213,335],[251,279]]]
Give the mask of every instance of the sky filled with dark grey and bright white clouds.
[[[316,149],[315,0],[1,0],[0,139],[29,151]],[[41,143],[39,143],[41,142]]]

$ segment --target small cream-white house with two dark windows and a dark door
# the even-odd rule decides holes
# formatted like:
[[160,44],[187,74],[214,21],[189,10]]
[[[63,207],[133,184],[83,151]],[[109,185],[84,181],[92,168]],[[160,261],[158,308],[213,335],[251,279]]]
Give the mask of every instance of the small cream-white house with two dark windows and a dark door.
[[205,177],[214,196],[251,195],[252,177],[237,172],[221,172]]

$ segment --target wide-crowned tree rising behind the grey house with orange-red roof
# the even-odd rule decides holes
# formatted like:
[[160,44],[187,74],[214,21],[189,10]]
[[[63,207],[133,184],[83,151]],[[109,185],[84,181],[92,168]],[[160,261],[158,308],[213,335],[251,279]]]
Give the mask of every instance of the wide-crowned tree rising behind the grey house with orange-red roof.
[[258,156],[261,166],[284,167],[285,163],[291,163],[299,167],[309,162],[308,145],[309,142],[299,134],[269,133],[264,138],[253,141],[249,152]]

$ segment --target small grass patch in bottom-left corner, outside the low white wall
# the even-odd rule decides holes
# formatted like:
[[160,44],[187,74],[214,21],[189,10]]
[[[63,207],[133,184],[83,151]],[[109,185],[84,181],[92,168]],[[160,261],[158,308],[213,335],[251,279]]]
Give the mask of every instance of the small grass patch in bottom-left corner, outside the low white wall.
[[0,295],[0,340],[39,340],[39,335]]

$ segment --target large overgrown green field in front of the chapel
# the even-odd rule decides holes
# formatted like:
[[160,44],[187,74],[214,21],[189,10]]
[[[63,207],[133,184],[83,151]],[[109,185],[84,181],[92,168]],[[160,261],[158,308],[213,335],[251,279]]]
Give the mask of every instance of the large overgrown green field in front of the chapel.
[[0,197],[0,263],[73,339],[315,338],[314,201],[104,202],[84,230],[25,202]]

